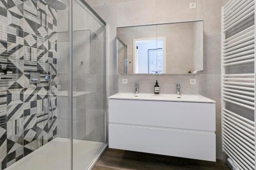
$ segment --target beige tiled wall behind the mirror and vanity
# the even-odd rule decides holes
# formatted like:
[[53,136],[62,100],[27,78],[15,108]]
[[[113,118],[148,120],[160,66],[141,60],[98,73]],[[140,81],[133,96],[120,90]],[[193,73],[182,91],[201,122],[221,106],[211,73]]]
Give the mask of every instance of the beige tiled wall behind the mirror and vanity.
[[[202,94],[217,101],[217,158],[221,151],[221,7],[227,0],[87,0],[96,12],[110,25],[108,73],[109,94],[133,92],[134,83],[139,82],[140,92],[153,92],[158,79],[162,93],[175,93],[176,83],[181,82],[181,92]],[[197,9],[189,9],[196,2]],[[144,25],[156,22],[204,20],[204,72],[201,75],[117,75],[116,74],[116,27]],[[128,84],[122,84],[122,78]],[[197,85],[189,79],[196,78]],[[117,89],[119,88],[119,90]]]

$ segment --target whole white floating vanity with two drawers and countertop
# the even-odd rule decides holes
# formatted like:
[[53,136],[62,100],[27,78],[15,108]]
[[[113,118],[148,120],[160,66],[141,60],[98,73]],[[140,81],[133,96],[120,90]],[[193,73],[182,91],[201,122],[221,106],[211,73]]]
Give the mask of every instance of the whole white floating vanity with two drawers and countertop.
[[216,161],[215,105],[201,95],[117,93],[109,98],[109,147]]

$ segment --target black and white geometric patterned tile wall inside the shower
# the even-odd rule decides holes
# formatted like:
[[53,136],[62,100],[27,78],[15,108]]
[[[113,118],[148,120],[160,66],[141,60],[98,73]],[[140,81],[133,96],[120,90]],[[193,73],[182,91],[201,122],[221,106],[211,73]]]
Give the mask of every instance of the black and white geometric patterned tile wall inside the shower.
[[[0,0],[0,169],[38,149],[57,134],[57,12],[44,0]],[[53,121],[48,122],[52,67]],[[29,84],[30,72],[40,83]]]

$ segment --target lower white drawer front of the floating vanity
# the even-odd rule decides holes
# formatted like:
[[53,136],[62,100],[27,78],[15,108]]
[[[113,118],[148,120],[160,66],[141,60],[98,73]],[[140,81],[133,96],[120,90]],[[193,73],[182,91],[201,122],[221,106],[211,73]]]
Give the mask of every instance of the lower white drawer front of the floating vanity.
[[109,147],[216,161],[216,135],[210,133],[110,124]]

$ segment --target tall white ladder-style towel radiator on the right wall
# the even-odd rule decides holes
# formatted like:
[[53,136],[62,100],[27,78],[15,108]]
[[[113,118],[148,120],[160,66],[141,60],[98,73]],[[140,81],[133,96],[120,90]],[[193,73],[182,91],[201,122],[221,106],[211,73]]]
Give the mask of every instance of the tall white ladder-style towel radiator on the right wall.
[[235,169],[256,169],[255,1],[222,7],[222,150]]

